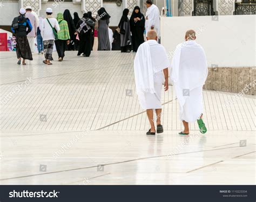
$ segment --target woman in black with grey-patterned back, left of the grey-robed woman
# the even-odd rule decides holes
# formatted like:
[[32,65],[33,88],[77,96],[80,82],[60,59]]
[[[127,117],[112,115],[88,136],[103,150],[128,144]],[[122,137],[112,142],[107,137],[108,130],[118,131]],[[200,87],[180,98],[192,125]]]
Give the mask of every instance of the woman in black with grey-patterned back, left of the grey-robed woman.
[[95,27],[95,22],[93,22],[88,13],[84,13],[83,17],[79,20],[77,24],[77,32],[79,37],[79,50],[77,55],[83,53],[84,57],[89,57],[91,54],[91,35],[92,29]]

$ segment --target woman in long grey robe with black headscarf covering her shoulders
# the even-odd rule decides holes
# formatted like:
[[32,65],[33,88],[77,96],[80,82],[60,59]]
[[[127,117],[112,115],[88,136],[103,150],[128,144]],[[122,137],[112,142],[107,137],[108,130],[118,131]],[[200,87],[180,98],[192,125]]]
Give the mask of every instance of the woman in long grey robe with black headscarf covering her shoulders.
[[98,51],[110,51],[109,41],[109,19],[110,15],[105,8],[98,10]]

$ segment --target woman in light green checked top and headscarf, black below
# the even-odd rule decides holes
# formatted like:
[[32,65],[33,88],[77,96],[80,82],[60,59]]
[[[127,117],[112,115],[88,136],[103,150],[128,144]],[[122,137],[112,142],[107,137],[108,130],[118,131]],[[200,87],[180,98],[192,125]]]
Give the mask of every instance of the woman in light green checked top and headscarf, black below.
[[58,39],[55,40],[56,50],[58,53],[58,61],[62,61],[65,56],[66,44],[70,43],[69,26],[66,20],[63,19],[61,12],[57,13],[57,21],[59,23]]

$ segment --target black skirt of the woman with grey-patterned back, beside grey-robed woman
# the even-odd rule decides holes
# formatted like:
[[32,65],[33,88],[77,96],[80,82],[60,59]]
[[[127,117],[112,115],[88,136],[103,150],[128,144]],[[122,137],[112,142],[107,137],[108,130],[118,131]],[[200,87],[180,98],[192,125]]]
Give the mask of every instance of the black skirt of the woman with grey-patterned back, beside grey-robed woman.
[[90,29],[86,33],[79,33],[79,49],[77,55],[84,53],[85,57],[89,57],[91,54],[92,44],[92,30]]

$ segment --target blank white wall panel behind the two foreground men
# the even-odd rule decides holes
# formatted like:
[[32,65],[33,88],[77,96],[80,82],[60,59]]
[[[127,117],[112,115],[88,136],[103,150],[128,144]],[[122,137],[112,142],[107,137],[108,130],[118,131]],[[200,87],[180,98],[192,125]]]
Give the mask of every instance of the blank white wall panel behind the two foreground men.
[[161,44],[172,59],[186,30],[197,32],[208,67],[256,66],[256,15],[161,17]]

